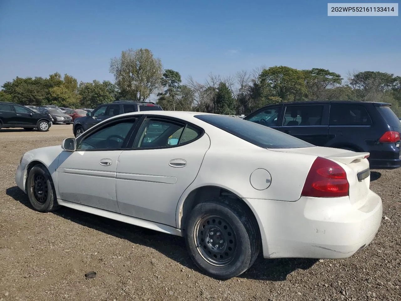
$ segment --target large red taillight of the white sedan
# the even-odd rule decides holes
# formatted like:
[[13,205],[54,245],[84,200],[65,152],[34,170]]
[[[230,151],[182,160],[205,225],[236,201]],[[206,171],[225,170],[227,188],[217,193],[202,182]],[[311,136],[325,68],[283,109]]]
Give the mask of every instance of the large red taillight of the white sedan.
[[349,183],[344,169],[334,161],[317,157],[302,189],[306,197],[345,197]]

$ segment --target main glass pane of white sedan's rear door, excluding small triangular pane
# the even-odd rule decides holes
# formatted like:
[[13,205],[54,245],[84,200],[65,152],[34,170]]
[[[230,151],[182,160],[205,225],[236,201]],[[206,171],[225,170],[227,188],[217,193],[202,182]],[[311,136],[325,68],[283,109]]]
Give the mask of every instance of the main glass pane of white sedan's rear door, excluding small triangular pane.
[[184,127],[184,124],[169,120],[148,118],[138,131],[134,148],[158,148],[176,145]]

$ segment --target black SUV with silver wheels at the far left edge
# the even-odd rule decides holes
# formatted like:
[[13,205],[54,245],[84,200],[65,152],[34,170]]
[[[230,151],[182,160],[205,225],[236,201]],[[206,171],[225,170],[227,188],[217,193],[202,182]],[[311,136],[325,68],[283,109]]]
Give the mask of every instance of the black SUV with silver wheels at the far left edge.
[[24,128],[47,132],[51,127],[51,118],[12,102],[0,102],[0,128]]

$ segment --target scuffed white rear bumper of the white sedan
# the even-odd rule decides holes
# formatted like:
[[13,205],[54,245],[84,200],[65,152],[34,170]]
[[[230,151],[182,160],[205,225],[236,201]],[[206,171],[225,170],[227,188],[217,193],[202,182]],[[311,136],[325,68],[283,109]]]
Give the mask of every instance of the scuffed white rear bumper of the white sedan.
[[265,258],[347,258],[373,240],[383,212],[373,191],[359,208],[348,197],[244,201],[257,218]]

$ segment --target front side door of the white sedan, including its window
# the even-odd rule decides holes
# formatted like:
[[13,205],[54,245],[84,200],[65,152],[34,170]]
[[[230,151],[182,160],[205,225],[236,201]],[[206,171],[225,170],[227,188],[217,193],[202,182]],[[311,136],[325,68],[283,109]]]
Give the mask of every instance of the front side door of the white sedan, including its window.
[[59,197],[112,212],[119,212],[115,193],[117,160],[137,118],[112,120],[77,139],[77,150],[59,157]]

